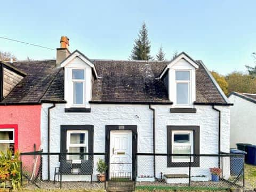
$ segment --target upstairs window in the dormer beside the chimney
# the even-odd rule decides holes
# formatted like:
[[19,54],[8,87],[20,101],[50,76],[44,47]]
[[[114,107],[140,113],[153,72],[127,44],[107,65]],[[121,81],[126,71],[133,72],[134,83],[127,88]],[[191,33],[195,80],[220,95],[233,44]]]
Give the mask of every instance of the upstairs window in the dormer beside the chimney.
[[73,105],[84,105],[85,75],[84,69],[72,69]]

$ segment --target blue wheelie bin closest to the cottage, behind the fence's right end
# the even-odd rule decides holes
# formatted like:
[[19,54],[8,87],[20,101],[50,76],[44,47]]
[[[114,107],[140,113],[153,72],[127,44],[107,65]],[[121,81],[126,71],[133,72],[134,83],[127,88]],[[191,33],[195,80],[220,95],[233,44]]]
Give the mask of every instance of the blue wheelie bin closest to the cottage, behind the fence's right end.
[[242,173],[244,168],[244,156],[246,152],[238,149],[230,149],[230,154],[235,154],[239,156],[230,156],[230,174],[239,175]]

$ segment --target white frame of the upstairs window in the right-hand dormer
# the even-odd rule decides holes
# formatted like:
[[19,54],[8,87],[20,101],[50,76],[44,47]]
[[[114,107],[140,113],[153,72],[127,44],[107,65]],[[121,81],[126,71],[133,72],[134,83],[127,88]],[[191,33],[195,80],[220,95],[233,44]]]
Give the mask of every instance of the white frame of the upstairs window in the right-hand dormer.
[[[188,71],[189,72],[189,80],[176,80],[176,71]],[[176,93],[175,93],[175,105],[177,106],[180,106],[180,107],[187,107],[187,106],[190,106],[191,105],[191,70],[190,69],[175,69],[174,71],[174,74],[175,74],[175,90],[176,90]],[[177,84],[179,83],[187,83],[188,84],[188,103],[187,104],[179,104],[177,103],[178,101],[178,91],[177,91]]]

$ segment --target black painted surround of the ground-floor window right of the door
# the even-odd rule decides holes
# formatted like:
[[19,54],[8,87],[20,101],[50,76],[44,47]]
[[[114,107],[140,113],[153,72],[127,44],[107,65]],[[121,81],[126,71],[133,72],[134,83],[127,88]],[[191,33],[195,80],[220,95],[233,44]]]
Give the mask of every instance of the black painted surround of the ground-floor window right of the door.
[[[200,154],[200,127],[194,125],[167,125],[167,154],[172,154],[172,131],[193,131],[193,151]],[[200,157],[194,156],[191,166],[200,166]],[[167,156],[167,167],[188,167],[189,162],[172,162],[172,156]]]

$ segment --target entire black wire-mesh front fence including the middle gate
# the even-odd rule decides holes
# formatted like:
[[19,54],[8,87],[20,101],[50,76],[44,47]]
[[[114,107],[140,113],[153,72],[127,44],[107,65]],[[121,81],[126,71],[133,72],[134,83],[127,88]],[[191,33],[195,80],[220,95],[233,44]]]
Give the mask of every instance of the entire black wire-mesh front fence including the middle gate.
[[[135,164],[106,165],[100,182],[97,163],[105,153],[21,153],[22,186],[34,189],[244,188],[244,156],[238,154],[136,154]],[[113,162],[112,162],[113,163]],[[130,162],[129,162],[130,163]],[[127,165],[126,165],[127,164]],[[115,171],[111,171],[111,166]],[[131,167],[135,166],[134,172]],[[130,167],[130,168],[129,168]],[[119,170],[119,171],[117,171]],[[117,172],[116,172],[117,171]],[[102,178],[101,178],[102,179]],[[104,178],[103,180],[104,181]]]

